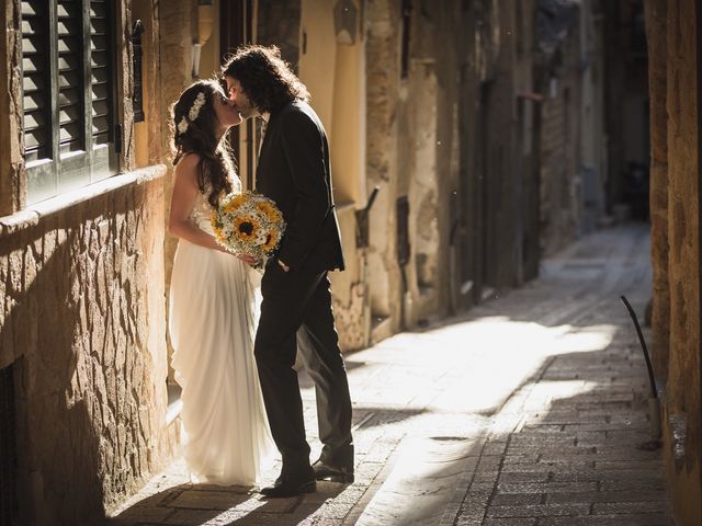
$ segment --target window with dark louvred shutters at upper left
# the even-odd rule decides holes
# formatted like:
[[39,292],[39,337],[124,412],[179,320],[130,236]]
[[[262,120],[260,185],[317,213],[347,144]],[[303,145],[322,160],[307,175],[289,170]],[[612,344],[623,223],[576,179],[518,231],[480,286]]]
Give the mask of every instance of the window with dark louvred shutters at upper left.
[[23,0],[27,203],[117,172],[111,0]]

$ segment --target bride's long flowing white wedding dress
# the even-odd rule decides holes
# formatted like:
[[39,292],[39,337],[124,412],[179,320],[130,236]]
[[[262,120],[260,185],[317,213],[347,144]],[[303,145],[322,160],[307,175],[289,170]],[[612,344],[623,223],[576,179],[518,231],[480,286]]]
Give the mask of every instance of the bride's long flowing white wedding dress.
[[[210,210],[199,194],[190,217],[212,233]],[[238,258],[179,240],[169,330],[195,482],[252,484],[274,450],[253,357],[254,282],[256,271]]]

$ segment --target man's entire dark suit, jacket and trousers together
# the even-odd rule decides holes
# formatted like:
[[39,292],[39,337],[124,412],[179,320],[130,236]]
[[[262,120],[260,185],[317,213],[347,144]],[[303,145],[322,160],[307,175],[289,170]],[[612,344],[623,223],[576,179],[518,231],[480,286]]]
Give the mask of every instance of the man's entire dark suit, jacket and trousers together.
[[[271,112],[259,153],[257,188],[287,221],[261,293],[256,359],[283,472],[309,472],[297,353],[315,382],[320,459],[353,472],[351,400],[335,329],[327,272],[343,270],[327,136],[314,110],[295,101]],[[285,272],[279,260],[290,266]],[[299,344],[298,344],[299,343]]]

